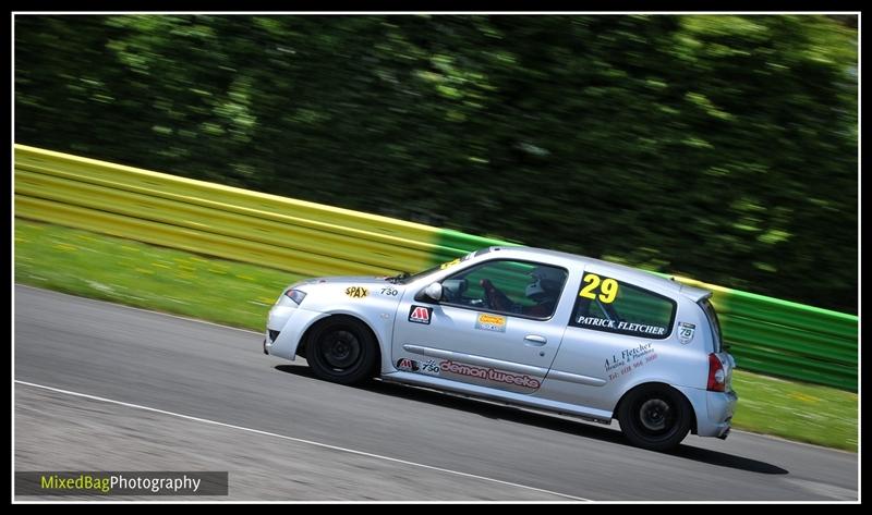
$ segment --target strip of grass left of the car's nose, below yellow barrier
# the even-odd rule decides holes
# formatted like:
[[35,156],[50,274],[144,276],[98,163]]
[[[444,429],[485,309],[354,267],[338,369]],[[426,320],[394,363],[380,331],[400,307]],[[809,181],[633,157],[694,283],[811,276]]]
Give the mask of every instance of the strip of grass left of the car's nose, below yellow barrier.
[[302,275],[15,220],[15,282],[263,331]]

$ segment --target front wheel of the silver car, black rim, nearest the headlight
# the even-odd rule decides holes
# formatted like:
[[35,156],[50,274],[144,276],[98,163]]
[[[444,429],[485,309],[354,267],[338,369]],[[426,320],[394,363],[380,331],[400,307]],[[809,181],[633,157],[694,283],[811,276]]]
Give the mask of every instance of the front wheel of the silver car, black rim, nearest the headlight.
[[372,377],[378,347],[370,329],[351,317],[330,317],[314,328],[306,342],[312,372],[324,380],[355,384]]

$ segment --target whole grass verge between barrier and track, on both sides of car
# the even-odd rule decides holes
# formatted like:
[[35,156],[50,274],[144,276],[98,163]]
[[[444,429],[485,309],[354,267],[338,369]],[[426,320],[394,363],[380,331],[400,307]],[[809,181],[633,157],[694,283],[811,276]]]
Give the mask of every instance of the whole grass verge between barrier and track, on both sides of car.
[[[15,220],[15,281],[262,331],[289,272]],[[857,452],[856,393],[737,370],[734,428]]]

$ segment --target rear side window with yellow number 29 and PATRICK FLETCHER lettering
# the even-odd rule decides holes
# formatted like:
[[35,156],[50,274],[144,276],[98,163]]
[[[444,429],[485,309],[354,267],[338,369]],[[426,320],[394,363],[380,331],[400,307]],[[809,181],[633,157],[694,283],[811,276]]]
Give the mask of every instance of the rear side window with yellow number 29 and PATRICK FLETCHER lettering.
[[663,340],[673,331],[675,301],[605,275],[585,273],[570,326]]

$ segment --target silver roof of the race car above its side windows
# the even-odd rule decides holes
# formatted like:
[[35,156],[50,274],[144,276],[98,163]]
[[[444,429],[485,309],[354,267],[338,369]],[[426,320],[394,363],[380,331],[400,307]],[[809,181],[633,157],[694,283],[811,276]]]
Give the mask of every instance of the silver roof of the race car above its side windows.
[[493,253],[499,253],[500,255],[505,255],[506,257],[511,257],[516,259],[529,259],[529,260],[541,260],[546,258],[548,261],[557,265],[561,265],[564,267],[582,267],[585,270],[590,268],[594,268],[597,270],[597,273],[608,274],[615,273],[620,279],[629,280],[632,283],[638,284],[639,286],[647,286],[647,287],[655,287],[661,291],[671,292],[671,293],[682,293],[689,297],[694,298],[697,301],[701,296],[706,296],[708,292],[699,289],[692,289],[694,292],[691,292],[689,287],[683,286],[681,283],[678,283],[671,279],[666,279],[655,274],[654,272],[649,272],[645,270],[640,270],[638,268],[628,267],[626,265],[618,265],[615,262],[604,261],[602,259],[595,259],[586,256],[579,256],[577,254],[569,254],[562,253],[559,250],[549,250],[547,248],[536,248],[536,247],[526,247],[526,246],[492,246],[488,247],[488,253],[485,254],[486,256],[493,256]]

